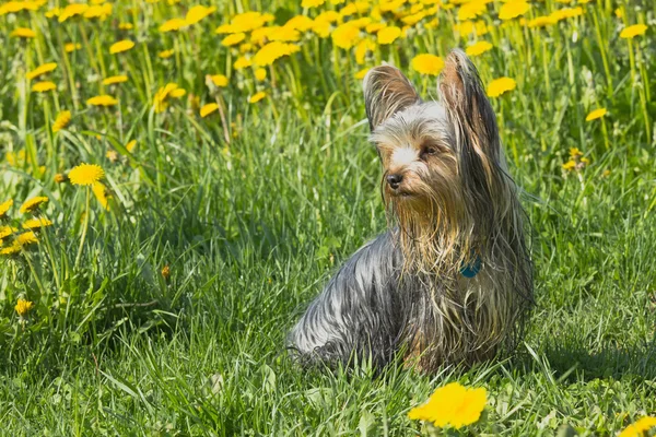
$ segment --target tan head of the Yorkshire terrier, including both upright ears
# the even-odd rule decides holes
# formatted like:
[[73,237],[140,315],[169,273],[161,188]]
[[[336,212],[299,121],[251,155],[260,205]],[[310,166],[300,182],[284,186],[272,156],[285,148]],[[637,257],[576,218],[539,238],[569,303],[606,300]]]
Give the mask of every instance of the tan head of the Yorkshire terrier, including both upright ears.
[[384,167],[384,198],[401,226],[485,233],[509,193],[494,113],[461,50],[446,58],[438,91],[440,102],[423,102],[398,69],[367,73],[366,114]]

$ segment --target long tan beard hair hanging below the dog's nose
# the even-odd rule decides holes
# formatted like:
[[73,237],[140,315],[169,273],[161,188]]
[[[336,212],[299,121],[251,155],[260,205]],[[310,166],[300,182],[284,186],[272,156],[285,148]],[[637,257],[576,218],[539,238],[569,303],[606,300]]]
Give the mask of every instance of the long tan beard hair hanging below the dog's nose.
[[385,191],[385,201],[388,220],[398,226],[403,271],[455,279],[472,261],[473,225],[457,181],[431,175],[429,182],[414,184],[410,194]]

